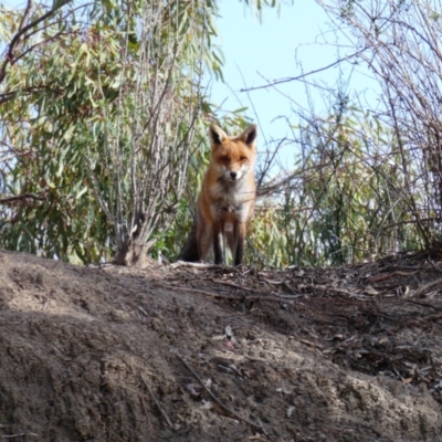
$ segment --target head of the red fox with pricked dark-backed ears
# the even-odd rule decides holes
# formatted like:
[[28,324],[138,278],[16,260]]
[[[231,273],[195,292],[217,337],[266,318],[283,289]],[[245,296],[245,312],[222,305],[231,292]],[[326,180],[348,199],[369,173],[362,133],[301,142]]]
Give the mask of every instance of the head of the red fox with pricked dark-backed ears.
[[250,125],[241,135],[229,137],[212,124],[209,129],[212,144],[212,162],[220,177],[227,181],[241,180],[255,165],[256,125]]

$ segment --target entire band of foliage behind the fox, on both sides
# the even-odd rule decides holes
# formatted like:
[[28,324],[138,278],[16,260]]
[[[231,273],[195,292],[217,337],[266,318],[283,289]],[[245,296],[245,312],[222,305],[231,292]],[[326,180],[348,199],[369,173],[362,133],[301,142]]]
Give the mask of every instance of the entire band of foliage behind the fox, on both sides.
[[[317,1],[346,23],[385,112],[341,97],[327,118],[298,114],[294,170],[269,180],[273,154],[259,168],[248,263],[341,264],[440,241],[438,2]],[[0,9],[1,248],[83,263],[178,254],[209,161],[217,13],[214,0]],[[227,114],[227,133],[244,112]]]

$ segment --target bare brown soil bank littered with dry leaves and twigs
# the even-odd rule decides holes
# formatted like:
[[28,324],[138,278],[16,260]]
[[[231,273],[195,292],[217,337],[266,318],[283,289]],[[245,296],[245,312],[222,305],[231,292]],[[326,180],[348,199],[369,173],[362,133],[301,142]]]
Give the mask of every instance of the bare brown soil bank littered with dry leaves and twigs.
[[0,252],[4,441],[442,441],[442,253],[333,269]]

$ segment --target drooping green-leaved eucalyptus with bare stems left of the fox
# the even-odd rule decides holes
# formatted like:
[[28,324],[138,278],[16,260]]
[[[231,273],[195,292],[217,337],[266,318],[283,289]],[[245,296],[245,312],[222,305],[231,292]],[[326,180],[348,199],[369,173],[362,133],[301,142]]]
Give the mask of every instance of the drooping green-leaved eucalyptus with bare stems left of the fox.
[[213,117],[217,13],[214,0],[0,7],[0,246],[143,262]]

